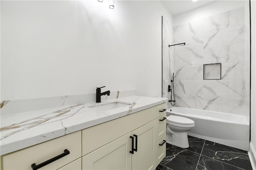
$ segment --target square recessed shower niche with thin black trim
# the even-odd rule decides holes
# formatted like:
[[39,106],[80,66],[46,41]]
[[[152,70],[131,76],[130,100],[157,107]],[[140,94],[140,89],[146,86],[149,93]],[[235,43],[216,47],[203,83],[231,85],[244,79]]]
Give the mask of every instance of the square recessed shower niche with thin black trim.
[[221,63],[204,64],[204,80],[220,80]]

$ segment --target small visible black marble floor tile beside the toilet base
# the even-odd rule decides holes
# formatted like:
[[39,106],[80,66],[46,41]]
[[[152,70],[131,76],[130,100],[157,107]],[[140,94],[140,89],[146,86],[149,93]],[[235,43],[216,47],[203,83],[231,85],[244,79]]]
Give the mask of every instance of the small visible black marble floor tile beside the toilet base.
[[201,154],[202,148],[204,146],[204,141],[204,139],[188,136],[189,147],[186,149]]

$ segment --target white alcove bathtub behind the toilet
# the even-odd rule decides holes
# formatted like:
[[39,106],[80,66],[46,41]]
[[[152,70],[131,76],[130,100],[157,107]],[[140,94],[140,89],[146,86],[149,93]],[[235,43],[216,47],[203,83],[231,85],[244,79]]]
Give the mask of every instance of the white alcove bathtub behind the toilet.
[[184,107],[170,109],[167,109],[166,116],[187,117],[195,122],[188,135],[249,150],[250,123],[245,116]]

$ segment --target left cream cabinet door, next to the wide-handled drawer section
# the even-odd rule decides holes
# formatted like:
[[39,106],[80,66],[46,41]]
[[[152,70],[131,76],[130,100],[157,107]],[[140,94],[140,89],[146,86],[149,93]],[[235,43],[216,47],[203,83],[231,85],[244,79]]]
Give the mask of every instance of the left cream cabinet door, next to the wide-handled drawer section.
[[82,157],[82,170],[130,170],[132,132]]

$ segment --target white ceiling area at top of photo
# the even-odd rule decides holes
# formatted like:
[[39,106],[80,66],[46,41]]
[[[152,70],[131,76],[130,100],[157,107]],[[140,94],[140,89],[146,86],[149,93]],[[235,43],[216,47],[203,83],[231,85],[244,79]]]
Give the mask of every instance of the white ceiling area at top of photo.
[[214,2],[214,0],[198,0],[196,2],[192,2],[192,0],[163,0],[162,3],[166,6],[167,10],[175,16],[178,14],[182,14],[184,12],[188,12],[190,10],[194,10],[206,4],[210,4]]

